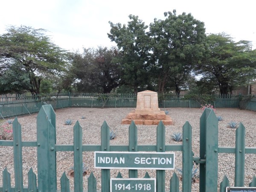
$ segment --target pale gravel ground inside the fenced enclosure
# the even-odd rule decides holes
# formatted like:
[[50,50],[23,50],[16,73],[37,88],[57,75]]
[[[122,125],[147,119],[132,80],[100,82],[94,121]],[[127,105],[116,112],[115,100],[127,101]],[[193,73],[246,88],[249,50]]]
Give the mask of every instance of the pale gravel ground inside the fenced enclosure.
[[[104,120],[108,123],[110,130],[116,132],[117,137],[110,141],[111,145],[128,145],[128,127],[120,122],[134,108],[66,108],[57,110],[56,113],[56,143],[73,144],[73,125],[79,121],[83,130],[83,144],[100,144],[100,128]],[[163,108],[161,108],[163,110]],[[174,125],[166,125],[166,144],[177,144],[171,139],[173,133],[182,132],[182,127],[186,121],[192,126],[192,151],[195,156],[199,156],[199,120],[202,110],[198,108],[166,108],[169,111]],[[216,109],[217,116],[223,116],[224,120],[219,122],[219,146],[235,146],[236,129],[227,128],[230,121],[242,122],[246,128],[246,147],[256,147],[256,112],[230,108]],[[22,128],[22,140],[36,140],[36,116],[19,117],[18,121]],[[81,119],[85,116],[86,119]],[[73,125],[64,125],[66,119],[72,119]],[[137,125],[138,145],[156,144],[156,125]],[[180,144],[180,143],[179,143]],[[36,148],[23,147],[23,180],[27,186],[27,172],[32,167],[37,174]],[[12,185],[14,185],[13,150],[12,147],[0,146],[0,170],[7,167],[11,174]],[[87,178],[93,172],[97,179],[97,188],[100,189],[100,169],[94,169],[93,152],[83,152],[83,161],[88,166],[88,174],[84,176],[84,189],[87,189]],[[251,182],[256,175],[256,154],[246,154],[245,156],[245,186]],[[57,181],[60,189],[60,177],[63,172],[68,173],[73,166],[72,152],[57,152]],[[219,154],[218,160],[218,182],[220,183],[224,175],[230,180],[230,186],[234,185],[234,154]],[[182,154],[175,152],[175,168],[182,168]],[[118,172],[124,178],[128,178],[128,170],[111,170],[111,178],[116,177]],[[144,177],[146,170],[139,170],[138,176]],[[151,177],[156,177],[154,170],[147,170]],[[166,190],[169,190],[169,180],[173,171],[166,171]],[[73,189],[73,177],[70,177],[70,188]],[[2,174],[0,174],[0,185],[2,185]],[[180,182],[181,187],[181,182]],[[181,189],[181,188],[180,188]],[[199,191],[199,183],[192,184],[192,191]]]

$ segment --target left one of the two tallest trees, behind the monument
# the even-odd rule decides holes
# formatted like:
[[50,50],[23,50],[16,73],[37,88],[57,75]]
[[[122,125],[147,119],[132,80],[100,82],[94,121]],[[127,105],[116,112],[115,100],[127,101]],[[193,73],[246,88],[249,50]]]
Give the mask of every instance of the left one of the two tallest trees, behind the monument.
[[134,93],[137,93],[140,87],[147,87],[150,82],[147,62],[149,37],[145,32],[148,26],[138,16],[129,15],[129,19],[127,26],[109,22],[111,30],[108,38],[117,44],[122,53],[120,62],[123,68],[124,84],[131,86]]

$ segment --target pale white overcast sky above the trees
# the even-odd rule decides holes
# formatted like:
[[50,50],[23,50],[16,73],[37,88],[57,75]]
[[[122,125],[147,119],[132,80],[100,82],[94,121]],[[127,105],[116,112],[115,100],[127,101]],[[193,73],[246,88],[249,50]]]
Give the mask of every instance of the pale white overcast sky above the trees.
[[234,41],[252,41],[256,49],[254,0],[4,0],[0,8],[0,34],[9,25],[49,31],[52,41],[68,50],[115,46],[108,38],[109,21],[127,24],[136,15],[146,25],[176,9],[205,24],[207,33],[225,32]]

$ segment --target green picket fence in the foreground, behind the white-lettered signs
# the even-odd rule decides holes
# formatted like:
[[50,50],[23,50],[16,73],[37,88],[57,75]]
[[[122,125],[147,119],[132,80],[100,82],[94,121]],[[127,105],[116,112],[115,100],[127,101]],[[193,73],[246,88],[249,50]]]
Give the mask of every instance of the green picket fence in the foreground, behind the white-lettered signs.
[[[204,110],[200,118],[200,156],[194,157],[192,152],[192,127],[189,122],[183,125],[183,142],[177,145],[166,145],[165,126],[162,122],[157,126],[156,145],[137,145],[137,127],[132,122],[129,126],[128,145],[110,145],[109,127],[106,122],[101,127],[100,145],[83,145],[82,128],[79,122],[73,127],[73,145],[56,144],[56,119],[51,105],[43,105],[37,116],[37,140],[22,141],[21,126],[15,118],[13,122],[13,141],[0,140],[0,146],[12,146],[14,153],[15,186],[11,186],[11,178],[7,169],[3,170],[3,185],[0,192],[70,192],[70,182],[66,174],[61,177],[61,189],[57,190],[56,178],[56,152],[73,151],[74,154],[74,191],[97,192],[96,178],[93,173],[88,177],[87,189],[83,189],[82,156],[83,151],[121,151],[140,152],[156,151],[182,151],[182,192],[192,190],[192,164],[200,164],[200,192],[226,192],[229,180],[224,177],[218,186],[218,154],[235,154],[235,186],[244,186],[244,162],[245,154],[256,154],[256,147],[245,147],[245,128],[240,123],[236,130],[236,147],[218,146],[218,119],[214,111],[209,108]],[[23,186],[22,147],[37,147],[38,175],[30,169],[28,173],[28,186]],[[1,157],[0,161],[4,160]],[[129,177],[136,178],[136,169],[129,170]],[[120,174],[117,177],[122,177]],[[148,174],[145,175],[148,177]],[[101,170],[101,192],[110,192],[110,169]],[[165,192],[165,170],[156,170],[156,191]],[[170,192],[179,192],[179,179],[174,173],[170,179]],[[256,187],[256,177],[250,183]]]

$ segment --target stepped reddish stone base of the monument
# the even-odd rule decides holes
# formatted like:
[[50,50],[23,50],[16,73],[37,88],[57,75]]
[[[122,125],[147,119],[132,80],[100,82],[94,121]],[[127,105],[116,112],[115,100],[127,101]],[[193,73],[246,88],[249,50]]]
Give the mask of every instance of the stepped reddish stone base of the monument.
[[122,119],[121,124],[131,124],[134,121],[135,125],[158,125],[160,121],[163,125],[172,125],[172,119],[167,116],[164,111],[149,111],[136,110],[129,113],[125,119]]

